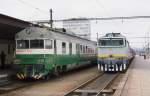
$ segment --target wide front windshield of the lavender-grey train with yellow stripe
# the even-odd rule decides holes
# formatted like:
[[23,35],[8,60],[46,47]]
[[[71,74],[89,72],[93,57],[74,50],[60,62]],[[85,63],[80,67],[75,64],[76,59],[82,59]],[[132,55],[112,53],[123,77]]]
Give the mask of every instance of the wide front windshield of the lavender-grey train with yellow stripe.
[[120,47],[124,45],[124,39],[122,38],[106,38],[106,39],[100,39],[99,40],[99,46],[104,47]]

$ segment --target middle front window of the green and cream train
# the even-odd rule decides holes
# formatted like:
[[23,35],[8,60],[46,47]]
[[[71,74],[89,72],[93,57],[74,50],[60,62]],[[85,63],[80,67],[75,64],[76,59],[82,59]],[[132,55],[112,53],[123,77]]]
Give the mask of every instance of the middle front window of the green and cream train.
[[44,48],[44,40],[30,40],[30,48]]

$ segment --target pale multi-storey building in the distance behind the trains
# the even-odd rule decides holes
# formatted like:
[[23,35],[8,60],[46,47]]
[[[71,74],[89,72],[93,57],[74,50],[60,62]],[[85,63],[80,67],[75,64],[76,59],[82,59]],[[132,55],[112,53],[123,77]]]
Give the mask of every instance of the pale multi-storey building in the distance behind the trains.
[[91,39],[90,21],[86,18],[69,19],[63,21],[63,28],[73,32],[76,36]]

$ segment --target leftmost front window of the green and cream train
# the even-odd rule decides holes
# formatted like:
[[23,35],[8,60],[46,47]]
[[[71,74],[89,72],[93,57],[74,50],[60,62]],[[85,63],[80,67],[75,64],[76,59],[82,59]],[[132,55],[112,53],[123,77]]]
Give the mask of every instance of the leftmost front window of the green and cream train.
[[28,49],[29,48],[29,40],[17,40],[17,49]]

